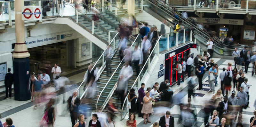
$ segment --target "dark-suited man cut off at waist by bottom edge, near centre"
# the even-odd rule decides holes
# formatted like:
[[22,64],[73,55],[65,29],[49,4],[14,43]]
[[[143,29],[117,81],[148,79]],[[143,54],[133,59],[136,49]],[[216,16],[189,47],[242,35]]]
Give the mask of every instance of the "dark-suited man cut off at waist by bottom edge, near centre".
[[[166,123],[166,119],[167,123]],[[174,127],[174,117],[171,116],[170,111],[166,111],[165,115],[160,117],[159,126],[161,127]]]

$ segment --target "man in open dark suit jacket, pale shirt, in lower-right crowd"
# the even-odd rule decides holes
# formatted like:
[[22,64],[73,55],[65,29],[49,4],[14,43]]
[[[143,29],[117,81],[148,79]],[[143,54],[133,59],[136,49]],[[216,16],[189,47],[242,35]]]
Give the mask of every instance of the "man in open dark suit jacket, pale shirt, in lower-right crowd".
[[229,105],[232,105],[231,102],[228,102],[228,96],[225,95],[223,96],[223,102],[220,102],[219,103],[219,106],[217,107],[217,111],[219,111],[219,118],[221,118],[221,115],[222,114],[226,114],[227,111],[232,111],[233,109],[229,109],[229,108],[232,108],[232,106],[229,106]]

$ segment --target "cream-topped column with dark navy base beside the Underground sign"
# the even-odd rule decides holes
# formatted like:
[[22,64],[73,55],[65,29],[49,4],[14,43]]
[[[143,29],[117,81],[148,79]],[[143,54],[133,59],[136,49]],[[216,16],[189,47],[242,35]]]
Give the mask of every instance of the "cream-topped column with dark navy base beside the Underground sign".
[[28,88],[29,79],[29,59],[27,46],[25,44],[25,25],[22,21],[21,11],[24,0],[16,0],[15,8],[15,34],[16,43],[12,54],[13,75],[14,75],[14,99],[18,101],[30,100],[30,90]]

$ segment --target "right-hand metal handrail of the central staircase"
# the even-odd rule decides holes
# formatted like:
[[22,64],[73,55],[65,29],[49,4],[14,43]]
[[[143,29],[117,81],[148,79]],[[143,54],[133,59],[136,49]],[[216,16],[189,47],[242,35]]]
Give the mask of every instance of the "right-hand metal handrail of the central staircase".
[[[168,34],[168,33],[167,33],[167,34]],[[169,33],[169,34],[170,34],[170,33]],[[166,35],[166,34],[165,34],[165,35]],[[155,47],[153,48],[152,52],[151,52],[150,55],[148,56],[147,61],[145,62],[144,66],[142,67],[142,69],[141,69],[139,75],[138,75],[137,78],[135,79],[135,81],[134,81],[134,83],[132,84],[132,87],[131,87],[131,88],[133,88],[134,85],[136,84],[138,78],[140,77],[140,74],[142,73],[144,67],[146,66],[146,63],[148,63],[148,60],[150,59],[150,56],[152,55],[153,51],[155,50],[155,48],[156,48],[157,44],[159,43],[159,40],[160,40],[161,37],[162,37],[162,35],[157,39],[157,42],[156,42],[156,44],[155,44]],[[148,67],[149,67],[149,66],[150,66],[150,65],[148,65]],[[127,100],[129,93],[130,93],[130,91],[129,91],[128,94],[126,95],[126,97],[125,97],[125,99],[124,99],[124,102]],[[122,118],[123,110],[124,110],[124,103],[123,103],[123,105],[122,105],[122,110],[121,110],[121,120],[123,120],[123,118]],[[125,115],[124,115],[124,116],[125,116]]]

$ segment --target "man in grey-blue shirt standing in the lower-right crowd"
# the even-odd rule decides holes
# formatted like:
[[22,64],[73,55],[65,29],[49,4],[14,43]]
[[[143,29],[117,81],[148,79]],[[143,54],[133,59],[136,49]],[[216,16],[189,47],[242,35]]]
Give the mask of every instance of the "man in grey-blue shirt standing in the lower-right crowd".
[[247,93],[244,92],[244,87],[240,87],[240,91],[238,91],[236,97],[238,99],[237,105],[238,105],[238,112],[239,112],[239,116],[237,120],[238,122],[242,122],[243,108],[245,108],[245,106],[248,103]]

